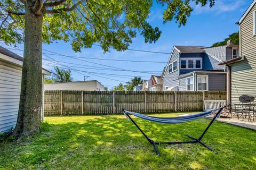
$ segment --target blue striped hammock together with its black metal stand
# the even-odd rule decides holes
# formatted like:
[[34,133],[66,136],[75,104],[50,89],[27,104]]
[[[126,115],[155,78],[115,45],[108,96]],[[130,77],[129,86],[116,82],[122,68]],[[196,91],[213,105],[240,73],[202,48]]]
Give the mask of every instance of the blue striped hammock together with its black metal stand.
[[[226,106],[225,106],[226,107]],[[220,113],[222,111],[223,108],[225,107],[220,107],[217,109],[213,109],[210,111],[206,111],[206,112],[202,112],[202,113],[198,113],[198,114],[193,114],[193,115],[186,115],[186,116],[180,116],[180,117],[156,117],[156,116],[149,116],[149,115],[144,115],[144,114],[140,114],[140,113],[135,113],[135,112],[129,112],[129,111],[125,111],[124,109],[122,109],[124,115],[126,116],[126,118],[130,121],[132,121],[132,123],[140,130],[140,132],[144,135],[144,137],[154,146],[155,150],[156,150],[156,154],[159,154],[159,151],[156,147],[156,145],[159,145],[161,143],[165,143],[168,145],[172,145],[172,144],[180,144],[180,143],[200,143],[201,145],[203,145],[204,147],[210,149],[211,151],[215,152],[217,154],[217,151],[213,150],[211,147],[205,145],[205,143],[203,143],[201,140],[204,137],[204,134],[207,132],[207,130],[210,128],[210,126],[212,125],[212,123],[214,122],[214,120],[220,116]],[[147,120],[147,121],[151,121],[151,122],[157,122],[157,123],[185,123],[185,122],[190,122],[190,121],[194,121],[197,120],[198,118],[203,118],[206,116],[209,116],[215,112],[218,113],[213,117],[213,119],[211,120],[211,122],[209,123],[209,125],[206,127],[206,129],[204,130],[204,132],[201,134],[201,136],[196,139],[194,137],[191,137],[190,135],[187,135],[187,137],[193,139],[190,141],[171,141],[171,142],[155,142],[154,140],[150,139],[141,129],[140,127],[137,125],[137,123],[134,122],[134,120],[131,118],[130,115],[142,118],[143,120]]]

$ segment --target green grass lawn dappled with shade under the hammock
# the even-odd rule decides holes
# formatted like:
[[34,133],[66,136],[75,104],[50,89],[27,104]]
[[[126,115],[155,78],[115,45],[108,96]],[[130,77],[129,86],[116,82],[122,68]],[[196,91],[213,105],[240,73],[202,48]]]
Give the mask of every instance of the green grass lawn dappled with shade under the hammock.
[[[134,120],[155,141],[198,137],[210,122]],[[256,169],[256,131],[214,122],[203,142],[219,154],[195,143],[158,146],[157,156],[123,115],[45,117],[35,137],[0,144],[0,169]]]

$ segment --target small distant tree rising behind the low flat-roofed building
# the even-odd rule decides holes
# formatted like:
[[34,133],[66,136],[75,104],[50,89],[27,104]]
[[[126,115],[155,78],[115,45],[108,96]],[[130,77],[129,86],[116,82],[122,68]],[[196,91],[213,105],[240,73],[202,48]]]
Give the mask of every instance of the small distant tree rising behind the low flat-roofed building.
[[54,67],[52,72],[52,81],[55,83],[71,82],[71,70],[60,69],[59,67]]

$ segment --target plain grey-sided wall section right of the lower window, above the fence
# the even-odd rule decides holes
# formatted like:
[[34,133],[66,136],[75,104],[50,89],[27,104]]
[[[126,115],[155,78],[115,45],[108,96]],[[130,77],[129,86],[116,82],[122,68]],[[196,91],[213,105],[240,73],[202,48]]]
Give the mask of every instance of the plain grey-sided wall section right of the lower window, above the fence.
[[209,91],[226,91],[227,74],[208,74],[208,90]]

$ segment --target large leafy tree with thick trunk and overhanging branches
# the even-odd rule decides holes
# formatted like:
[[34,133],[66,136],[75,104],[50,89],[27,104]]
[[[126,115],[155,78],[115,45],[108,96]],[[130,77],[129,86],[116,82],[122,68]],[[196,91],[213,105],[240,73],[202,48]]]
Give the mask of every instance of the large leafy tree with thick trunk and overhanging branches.
[[[165,7],[164,23],[173,18],[185,25],[193,9],[190,2],[210,7],[216,0],[157,0]],[[21,94],[13,135],[38,132],[42,106],[42,43],[71,42],[73,50],[100,43],[125,50],[137,31],[146,43],[155,43],[161,31],[146,21],[153,1],[95,0],[3,0],[0,2],[0,38],[5,44],[24,42]],[[121,19],[122,18],[122,19]]]

